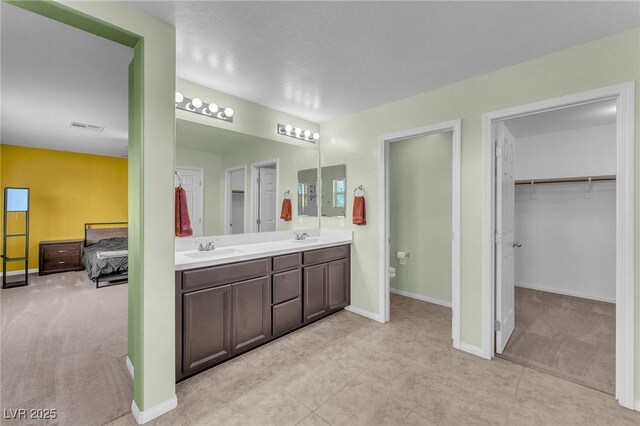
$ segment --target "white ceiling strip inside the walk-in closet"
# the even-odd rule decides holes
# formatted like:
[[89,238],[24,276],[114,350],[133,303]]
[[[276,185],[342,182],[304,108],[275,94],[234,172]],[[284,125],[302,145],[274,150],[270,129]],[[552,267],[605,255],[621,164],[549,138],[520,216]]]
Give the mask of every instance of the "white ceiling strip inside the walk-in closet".
[[516,138],[615,123],[614,99],[505,120]]

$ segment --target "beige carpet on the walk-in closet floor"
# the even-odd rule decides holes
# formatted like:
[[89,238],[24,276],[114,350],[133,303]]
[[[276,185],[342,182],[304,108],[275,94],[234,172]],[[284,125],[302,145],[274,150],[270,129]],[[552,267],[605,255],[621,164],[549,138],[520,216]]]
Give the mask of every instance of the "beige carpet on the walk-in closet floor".
[[516,287],[513,362],[615,394],[616,306]]

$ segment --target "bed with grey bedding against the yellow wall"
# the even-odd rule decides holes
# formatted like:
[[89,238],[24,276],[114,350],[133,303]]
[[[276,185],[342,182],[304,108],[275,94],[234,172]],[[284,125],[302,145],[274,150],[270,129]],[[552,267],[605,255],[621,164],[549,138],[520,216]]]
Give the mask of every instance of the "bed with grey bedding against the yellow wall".
[[85,223],[82,265],[96,288],[128,280],[127,222]]

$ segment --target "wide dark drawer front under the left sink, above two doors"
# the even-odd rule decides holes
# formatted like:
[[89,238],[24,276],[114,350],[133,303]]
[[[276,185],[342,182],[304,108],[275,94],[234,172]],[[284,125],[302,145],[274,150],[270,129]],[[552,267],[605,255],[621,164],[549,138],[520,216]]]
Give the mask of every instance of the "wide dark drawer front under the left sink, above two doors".
[[250,280],[269,274],[269,259],[250,260],[229,265],[212,266],[185,271],[182,274],[182,289],[197,290],[223,284]]

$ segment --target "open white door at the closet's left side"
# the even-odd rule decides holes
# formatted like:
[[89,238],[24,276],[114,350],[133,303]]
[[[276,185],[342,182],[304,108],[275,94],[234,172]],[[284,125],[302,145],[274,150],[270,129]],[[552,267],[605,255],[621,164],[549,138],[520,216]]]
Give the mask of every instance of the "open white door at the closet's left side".
[[496,352],[515,327],[515,140],[504,123],[496,129]]

